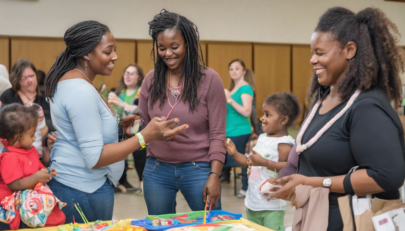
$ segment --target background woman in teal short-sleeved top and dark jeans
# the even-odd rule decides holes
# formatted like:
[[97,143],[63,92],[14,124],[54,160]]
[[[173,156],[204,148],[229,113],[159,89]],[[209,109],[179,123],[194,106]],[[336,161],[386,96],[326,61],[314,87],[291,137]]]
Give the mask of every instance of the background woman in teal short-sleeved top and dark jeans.
[[[254,81],[252,70],[246,69],[241,59],[232,60],[229,63],[229,75],[231,83],[229,90],[225,89],[227,104],[226,113],[226,137],[230,138],[236,145],[239,153],[245,153],[246,143],[252,134],[250,115],[252,114],[252,101],[254,96]],[[237,166],[238,164],[226,154],[224,165],[225,178],[229,179],[229,170],[226,166]],[[246,196],[247,190],[247,167],[242,168],[242,189],[238,197]]]

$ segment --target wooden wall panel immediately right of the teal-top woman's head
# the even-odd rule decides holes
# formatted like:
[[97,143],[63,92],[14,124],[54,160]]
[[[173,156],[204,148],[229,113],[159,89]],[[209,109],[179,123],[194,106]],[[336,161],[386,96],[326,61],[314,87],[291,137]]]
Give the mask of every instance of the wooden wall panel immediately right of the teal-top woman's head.
[[256,77],[256,112],[262,115],[262,104],[272,93],[291,91],[291,46],[254,44]]

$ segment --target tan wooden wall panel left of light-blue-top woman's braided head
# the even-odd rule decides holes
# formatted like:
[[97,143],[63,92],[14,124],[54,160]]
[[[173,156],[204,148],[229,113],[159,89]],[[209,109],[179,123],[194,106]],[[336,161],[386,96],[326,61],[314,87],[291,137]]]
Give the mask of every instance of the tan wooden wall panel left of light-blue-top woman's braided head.
[[11,36],[12,67],[19,58],[30,60],[36,69],[48,73],[58,56],[65,49],[62,38],[13,37]]

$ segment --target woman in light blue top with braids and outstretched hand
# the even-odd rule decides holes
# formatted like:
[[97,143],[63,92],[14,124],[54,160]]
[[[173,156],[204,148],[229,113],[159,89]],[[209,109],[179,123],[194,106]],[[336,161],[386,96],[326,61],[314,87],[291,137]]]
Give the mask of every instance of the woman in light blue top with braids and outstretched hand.
[[170,140],[188,125],[167,131],[164,127],[176,120],[157,123],[162,119],[154,118],[136,136],[118,142],[125,137],[124,132],[132,136],[130,127],[140,118],[123,118],[120,126],[93,83],[97,74],[112,74],[118,59],[114,36],[104,24],[83,21],[69,28],[63,39],[66,49],[56,58],[45,80],[45,95],[58,131],[51,152],[51,166],[58,176],[48,185],[56,197],[68,204],[62,209],[66,223],[72,222],[73,216],[76,222],[84,222],[75,203],[90,222],[111,220],[113,187],[124,170],[124,159],[145,147],[145,143]]

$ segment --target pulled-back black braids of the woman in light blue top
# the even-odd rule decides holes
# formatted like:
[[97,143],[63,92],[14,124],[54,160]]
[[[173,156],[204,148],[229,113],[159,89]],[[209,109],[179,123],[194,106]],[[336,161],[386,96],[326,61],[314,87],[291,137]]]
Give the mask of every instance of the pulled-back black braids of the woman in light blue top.
[[76,59],[90,53],[106,32],[110,32],[110,29],[98,21],[82,21],[66,30],[63,36],[66,49],[56,57],[45,78],[45,97],[48,102],[55,94],[60,77],[75,68]]

